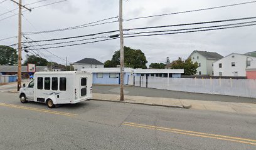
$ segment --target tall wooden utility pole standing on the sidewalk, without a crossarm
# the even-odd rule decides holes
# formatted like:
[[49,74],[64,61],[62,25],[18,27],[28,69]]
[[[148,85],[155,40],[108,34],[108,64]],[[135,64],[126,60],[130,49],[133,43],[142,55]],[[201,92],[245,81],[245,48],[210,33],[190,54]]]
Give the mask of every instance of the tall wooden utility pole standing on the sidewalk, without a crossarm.
[[119,31],[120,31],[120,101],[124,101],[124,35],[122,27],[122,1],[119,0]]

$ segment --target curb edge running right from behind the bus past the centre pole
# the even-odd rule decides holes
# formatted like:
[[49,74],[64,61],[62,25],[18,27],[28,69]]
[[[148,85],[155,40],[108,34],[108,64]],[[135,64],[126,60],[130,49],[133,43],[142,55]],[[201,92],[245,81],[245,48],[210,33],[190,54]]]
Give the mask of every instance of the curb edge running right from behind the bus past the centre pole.
[[191,108],[191,105],[188,106],[178,106],[178,105],[161,105],[161,104],[146,104],[146,103],[134,103],[134,102],[127,102],[127,101],[111,101],[111,100],[105,100],[105,99],[90,99],[93,101],[107,101],[107,102],[116,102],[116,103],[128,103],[128,104],[141,104],[141,105],[148,105],[148,106],[161,106],[166,108],[183,108],[183,109],[189,109]]

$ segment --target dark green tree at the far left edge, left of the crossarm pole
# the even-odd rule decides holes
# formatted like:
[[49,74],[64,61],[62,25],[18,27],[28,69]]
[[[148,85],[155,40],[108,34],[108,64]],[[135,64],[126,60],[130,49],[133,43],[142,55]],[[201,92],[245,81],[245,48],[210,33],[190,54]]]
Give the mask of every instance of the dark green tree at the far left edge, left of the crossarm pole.
[[18,54],[13,47],[0,45],[0,65],[18,63]]

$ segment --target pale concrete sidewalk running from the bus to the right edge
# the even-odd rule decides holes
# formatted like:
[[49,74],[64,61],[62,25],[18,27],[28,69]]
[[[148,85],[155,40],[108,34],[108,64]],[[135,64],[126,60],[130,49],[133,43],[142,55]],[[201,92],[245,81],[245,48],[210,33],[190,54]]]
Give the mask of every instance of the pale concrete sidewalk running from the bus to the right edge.
[[152,98],[144,96],[125,96],[124,101],[119,101],[117,94],[93,93],[97,101],[112,101],[118,103],[146,104],[151,106],[164,106],[170,108],[191,108],[207,111],[222,111],[237,114],[256,114],[256,104],[230,103],[220,101],[199,101],[191,99]]

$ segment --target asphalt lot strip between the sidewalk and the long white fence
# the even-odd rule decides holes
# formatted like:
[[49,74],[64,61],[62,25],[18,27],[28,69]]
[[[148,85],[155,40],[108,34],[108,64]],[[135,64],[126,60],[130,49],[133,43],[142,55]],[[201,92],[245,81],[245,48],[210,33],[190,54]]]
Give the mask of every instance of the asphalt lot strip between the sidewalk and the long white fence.
[[[93,86],[93,93],[119,94],[119,86]],[[186,93],[180,91],[169,91],[163,89],[141,88],[125,86],[124,94],[130,96],[146,96],[153,98],[176,98],[176,99],[195,99],[202,101],[223,101],[234,103],[256,103],[254,98],[242,98],[237,96],[224,96],[216,94]]]

